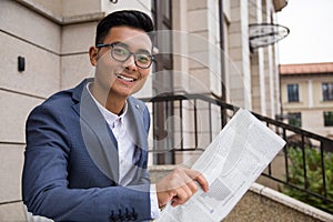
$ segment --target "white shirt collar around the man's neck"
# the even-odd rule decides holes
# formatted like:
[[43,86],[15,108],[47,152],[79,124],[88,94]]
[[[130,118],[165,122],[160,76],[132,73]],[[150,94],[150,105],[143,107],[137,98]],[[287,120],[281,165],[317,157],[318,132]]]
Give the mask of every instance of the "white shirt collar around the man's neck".
[[110,112],[109,110],[107,110],[107,108],[104,108],[104,105],[102,105],[90,92],[90,87],[91,87],[92,82],[89,82],[87,84],[87,89],[88,92],[90,94],[90,97],[92,98],[92,100],[94,101],[94,103],[97,104],[97,107],[99,108],[100,112],[102,113],[102,115],[104,117],[105,121],[111,124],[115,121],[120,121],[123,122],[123,119],[128,112],[128,102],[125,101],[124,107],[122,109],[122,113],[121,115],[114,114],[113,112]]

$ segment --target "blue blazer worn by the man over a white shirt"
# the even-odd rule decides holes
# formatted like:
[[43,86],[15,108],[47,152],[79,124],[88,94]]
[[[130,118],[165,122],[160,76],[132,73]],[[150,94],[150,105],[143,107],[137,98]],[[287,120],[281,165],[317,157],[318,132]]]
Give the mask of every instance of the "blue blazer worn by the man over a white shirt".
[[151,216],[148,174],[150,115],[130,97],[138,133],[128,186],[118,184],[118,145],[84,80],[37,107],[27,120],[22,196],[28,210],[54,221],[143,221]]

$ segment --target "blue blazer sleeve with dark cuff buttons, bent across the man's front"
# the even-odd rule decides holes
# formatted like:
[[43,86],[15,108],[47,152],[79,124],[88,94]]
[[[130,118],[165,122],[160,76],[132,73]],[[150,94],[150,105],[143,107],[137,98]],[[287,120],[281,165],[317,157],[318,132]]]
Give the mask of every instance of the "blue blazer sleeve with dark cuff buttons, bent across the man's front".
[[150,220],[150,184],[68,188],[68,124],[63,111],[54,107],[38,107],[28,118],[22,173],[22,196],[28,210],[54,221]]

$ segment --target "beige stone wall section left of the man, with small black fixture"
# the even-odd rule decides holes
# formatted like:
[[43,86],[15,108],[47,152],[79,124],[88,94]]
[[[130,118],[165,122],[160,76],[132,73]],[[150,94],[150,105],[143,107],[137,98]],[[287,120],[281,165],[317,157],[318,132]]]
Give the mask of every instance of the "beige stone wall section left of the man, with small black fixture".
[[[0,42],[0,221],[22,221],[24,124],[30,111],[60,89],[61,28],[26,4],[2,0]],[[23,72],[18,57],[26,59]]]

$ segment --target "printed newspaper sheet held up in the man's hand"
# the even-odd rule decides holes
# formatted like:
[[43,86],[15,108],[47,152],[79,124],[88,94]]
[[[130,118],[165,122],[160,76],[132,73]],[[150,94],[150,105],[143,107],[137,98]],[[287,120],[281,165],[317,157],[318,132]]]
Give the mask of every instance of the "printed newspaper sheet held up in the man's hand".
[[168,204],[158,222],[223,220],[285,144],[248,110],[240,109],[192,169],[208,180],[183,205]]

